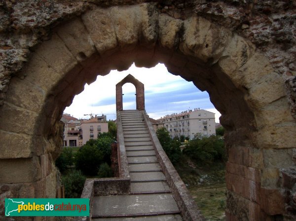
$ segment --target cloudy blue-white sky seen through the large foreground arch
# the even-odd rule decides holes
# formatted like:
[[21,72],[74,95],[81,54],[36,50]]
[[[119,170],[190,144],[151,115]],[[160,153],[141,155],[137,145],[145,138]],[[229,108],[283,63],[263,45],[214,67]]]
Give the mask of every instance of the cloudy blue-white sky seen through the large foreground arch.
[[[149,117],[159,119],[167,114],[181,113],[200,108],[215,113],[219,123],[221,114],[211,103],[209,94],[201,92],[192,82],[168,72],[164,64],[155,67],[136,67],[126,71],[111,70],[106,76],[98,76],[92,84],[85,84],[84,91],[76,95],[64,113],[78,119],[88,119],[92,115],[107,115],[107,120],[116,119],[115,85],[128,74],[141,81],[145,87],[145,108]],[[136,89],[131,83],[122,87],[123,109],[136,109]]]

